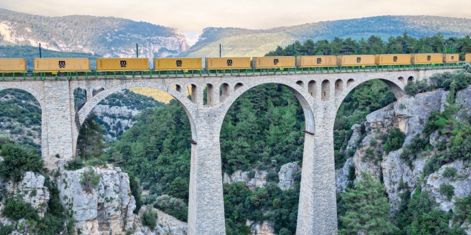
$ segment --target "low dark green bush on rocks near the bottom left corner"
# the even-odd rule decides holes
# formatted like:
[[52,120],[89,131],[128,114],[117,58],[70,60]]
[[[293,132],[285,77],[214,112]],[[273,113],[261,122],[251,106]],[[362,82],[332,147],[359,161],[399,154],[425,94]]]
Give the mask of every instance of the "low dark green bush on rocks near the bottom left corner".
[[36,214],[36,209],[34,209],[30,203],[22,201],[21,198],[8,200],[7,205],[3,208],[1,213],[4,217],[14,221],[18,221],[19,219],[32,219],[36,221],[39,219],[38,214]]

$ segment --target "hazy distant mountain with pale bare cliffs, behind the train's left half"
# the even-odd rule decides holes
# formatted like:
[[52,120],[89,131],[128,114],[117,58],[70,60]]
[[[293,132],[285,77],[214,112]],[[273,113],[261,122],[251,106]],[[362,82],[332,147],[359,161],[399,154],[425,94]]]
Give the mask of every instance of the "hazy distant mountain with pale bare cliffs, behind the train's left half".
[[27,45],[105,57],[166,57],[188,49],[177,29],[96,16],[36,16],[0,9],[0,45]]

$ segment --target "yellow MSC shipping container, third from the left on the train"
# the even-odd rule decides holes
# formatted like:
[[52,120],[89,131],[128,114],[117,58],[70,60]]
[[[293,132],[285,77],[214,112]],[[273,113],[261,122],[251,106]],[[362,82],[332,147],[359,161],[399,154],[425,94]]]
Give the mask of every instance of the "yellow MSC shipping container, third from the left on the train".
[[148,58],[96,58],[97,71],[149,70]]

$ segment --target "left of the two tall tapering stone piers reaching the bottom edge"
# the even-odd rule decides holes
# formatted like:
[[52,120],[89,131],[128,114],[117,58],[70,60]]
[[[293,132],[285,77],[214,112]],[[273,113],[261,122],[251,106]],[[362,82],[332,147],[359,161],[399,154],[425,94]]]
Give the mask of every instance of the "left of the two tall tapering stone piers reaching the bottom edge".
[[190,140],[188,235],[226,234],[217,118],[219,115],[214,108],[202,108],[193,116],[197,138]]

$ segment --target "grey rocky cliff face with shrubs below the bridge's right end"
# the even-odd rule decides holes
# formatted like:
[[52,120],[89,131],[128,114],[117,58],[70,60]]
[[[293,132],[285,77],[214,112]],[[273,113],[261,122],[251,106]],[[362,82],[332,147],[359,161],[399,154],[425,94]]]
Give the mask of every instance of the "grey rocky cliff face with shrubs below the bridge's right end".
[[[430,195],[435,199],[441,210],[448,212],[454,210],[454,199],[448,199],[440,191],[440,185],[450,184],[454,187],[455,197],[466,197],[471,193],[471,165],[470,162],[463,160],[456,160],[441,166],[434,173],[424,174],[424,166],[428,159],[430,159],[436,150],[424,153],[423,156],[406,162],[401,158],[404,148],[408,145],[414,145],[412,140],[424,130],[428,116],[432,112],[440,112],[445,109],[447,104],[446,96],[448,91],[436,90],[433,92],[426,92],[415,95],[415,97],[403,97],[396,103],[391,104],[381,110],[372,112],[366,116],[366,136],[361,140],[358,149],[355,151],[353,158],[347,160],[347,163],[342,169],[337,171],[337,190],[342,192],[348,183],[347,175],[348,169],[351,166],[355,167],[356,178],[360,179],[360,172],[367,171],[373,177],[384,180],[386,193],[388,194],[389,201],[391,202],[391,209],[397,210],[397,206],[401,201],[399,194],[403,193],[405,188],[401,188],[402,183],[407,183],[408,190],[414,192],[418,186],[421,190],[427,190]],[[467,118],[470,114],[471,108],[471,87],[460,90],[456,94],[456,102],[460,104],[459,111],[454,118],[459,121]],[[382,136],[388,134],[393,127],[398,127],[406,134],[404,145],[396,151],[391,151],[385,154],[381,151],[384,147],[382,143]],[[355,127],[351,142],[355,138],[358,139],[358,130]],[[384,138],[384,137],[383,137]],[[437,146],[438,143],[448,143],[446,136],[440,136],[437,132],[430,135],[428,140],[430,145]],[[373,149],[376,158],[365,158],[367,149]],[[377,158],[382,156],[382,158]],[[443,172],[446,168],[454,168],[459,177],[446,177]],[[402,184],[404,185],[404,184]],[[471,234],[471,231],[468,232]]]

